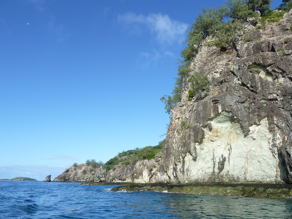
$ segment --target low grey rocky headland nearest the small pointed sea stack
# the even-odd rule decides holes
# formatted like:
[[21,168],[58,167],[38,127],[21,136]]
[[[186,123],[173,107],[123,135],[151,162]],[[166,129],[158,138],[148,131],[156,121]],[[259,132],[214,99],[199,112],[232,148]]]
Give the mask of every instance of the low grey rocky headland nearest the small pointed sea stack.
[[62,174],[58,175],[54,182],[99,182],[105,180],[105,168],[91,168],[86,164],[79,164],[71,166],[66,169]]

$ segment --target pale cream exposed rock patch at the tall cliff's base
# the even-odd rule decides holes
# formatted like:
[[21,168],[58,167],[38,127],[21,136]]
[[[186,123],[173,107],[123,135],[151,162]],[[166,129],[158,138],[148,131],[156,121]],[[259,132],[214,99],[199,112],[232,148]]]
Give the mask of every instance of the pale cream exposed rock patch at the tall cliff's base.
[[[270,150],[267,119],[250,127],[244,136],[240,123],[231,112],[222,111],[209,121],[212,129],[204,128],[201,144],[197,143],[197,159],[187,154],[184,170],[177,171],[181,183],[185,181],[208,182],[218,175],[220,182],[277,182],[277,161]],[[182,163],[182,160],[178,164]],[[181,169],[177,168],[176,170]],[[184,174],[183,174],[184,173]]]

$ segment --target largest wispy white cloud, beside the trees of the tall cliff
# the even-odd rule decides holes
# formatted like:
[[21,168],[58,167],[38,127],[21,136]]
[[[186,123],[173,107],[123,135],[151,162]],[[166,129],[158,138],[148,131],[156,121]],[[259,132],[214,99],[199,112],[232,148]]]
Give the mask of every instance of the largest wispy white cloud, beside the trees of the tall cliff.
[[135,13],[125,13],[118,16],[118,22],[122,23],[133,32],[140,33],[142,26],[155,36],[155,39],[161,44],[182,43],[185,38],[185,32],[188,25],[177,20],[171,19],[168,15],[150,14],[137,15]]

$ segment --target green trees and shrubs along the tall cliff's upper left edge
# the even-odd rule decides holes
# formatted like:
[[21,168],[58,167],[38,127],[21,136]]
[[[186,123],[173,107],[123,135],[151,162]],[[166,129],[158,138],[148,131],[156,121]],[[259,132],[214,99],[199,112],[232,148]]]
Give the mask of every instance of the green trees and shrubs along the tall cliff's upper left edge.
[[[200,95],[202,91],[207,91],[207,78],[199,73],[194,73],[190,67],[191,62],[196,57],[201,45],[217,46],[220,52],[225,52],[232,49],[234,37],[241,29],[241,19],[246,20],[250,17],[257,17],[256,11],[265,13],[270,8],[270,0],[229,0],[225,5],[212,7],[209,9],[202,8],[201,13],[195,18],[191,28],[187,34],[185,44],[187,47],[180,53],[181,60],[178,65],[178,76],[175,81],[175,88],[172,95],[164,95],[161,101],[165,104],[165,109],[168,114],[173,110],[173,107],[180,102],[183,83],[191,76],[190,80],[201,81],[203,78],[203,86],[197,87],[195,90],[189,90],[188,100],[191,100],[196,95]],[[245,34],[245,32],[244,32]],[[211,37],[211,40],[209,40]],[[208,41],[206,42],[206,39]],[[201,81],[201,82],[203,82]],[[201,84],[202,85],[202,84]],[[195,85],[196,86],[196,85]]]

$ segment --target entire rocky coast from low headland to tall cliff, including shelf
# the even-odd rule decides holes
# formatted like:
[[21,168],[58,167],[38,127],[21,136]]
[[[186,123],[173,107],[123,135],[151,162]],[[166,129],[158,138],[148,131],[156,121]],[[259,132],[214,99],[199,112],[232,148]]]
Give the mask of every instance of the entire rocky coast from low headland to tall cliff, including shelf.
[[[281,17],[243,22],[232,46],[218,48],[208,36],[196,47],[181,99],[168,111],[166,139],[149,149],[152,157],[128,150],[105,166],[71,166],[53,181],[291,198],[292,10],[271,13]],[[193,95],[194,77],[204,76],[208,89]]]

